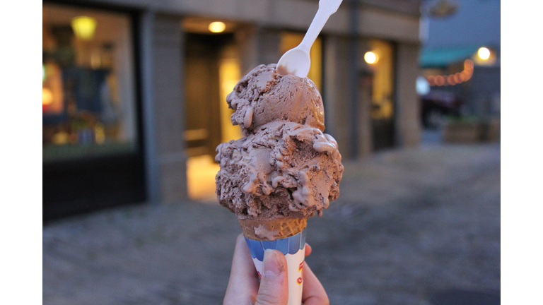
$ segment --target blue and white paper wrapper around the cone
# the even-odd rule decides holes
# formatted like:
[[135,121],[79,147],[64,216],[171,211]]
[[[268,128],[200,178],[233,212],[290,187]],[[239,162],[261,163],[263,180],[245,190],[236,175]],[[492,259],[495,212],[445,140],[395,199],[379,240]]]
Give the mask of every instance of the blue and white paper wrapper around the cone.
[[262,261],[264,261],[264,250],[275,249],[281,251],[286,257],[286,268],[288,270],[288,303],[287,305],[302,304],[303,289],[303,264],[305,261],[305,229],[302,232],[274,241],[256,241],[248,239],[247,247],[251,253],[252,261],[255,263],[259,277],[262,277]]

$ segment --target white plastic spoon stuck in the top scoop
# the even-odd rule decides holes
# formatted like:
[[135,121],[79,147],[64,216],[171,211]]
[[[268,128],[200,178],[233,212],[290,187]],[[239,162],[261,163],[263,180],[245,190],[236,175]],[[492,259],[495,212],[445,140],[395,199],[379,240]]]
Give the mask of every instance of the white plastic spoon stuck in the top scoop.
[[302,42],[298,44],[298,47],[288,50],[279,62],[277,63],[277,72],[286,75],[293,74],[300,78],[308,76],[309,67],[311,66],[311,59],[309,51],[313,42],[317,39],[317,36],[325,26],[326,21],[337,11],[339,4],[343,0],[320,0],[319,9],[315,14],[315,18],[311,22],[308,28],[308,32],[305,32]]

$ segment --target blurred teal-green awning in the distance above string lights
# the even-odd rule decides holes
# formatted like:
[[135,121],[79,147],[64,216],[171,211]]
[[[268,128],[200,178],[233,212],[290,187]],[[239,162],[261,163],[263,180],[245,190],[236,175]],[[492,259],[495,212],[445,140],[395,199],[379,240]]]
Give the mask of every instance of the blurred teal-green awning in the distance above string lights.
[[478,47],[452,47],[443,49],[422,48],[419,55],[419,66],[423,68],[446,67],[470,58]]

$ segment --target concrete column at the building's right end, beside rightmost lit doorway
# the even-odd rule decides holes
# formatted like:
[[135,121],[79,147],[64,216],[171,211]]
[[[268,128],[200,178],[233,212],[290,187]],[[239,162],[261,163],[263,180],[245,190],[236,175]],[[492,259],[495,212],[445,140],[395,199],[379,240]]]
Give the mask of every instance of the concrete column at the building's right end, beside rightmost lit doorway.
[[397,45],[395,141],[398,147],[421,142],[421,106],[416,93],[418,58],[419,44]]

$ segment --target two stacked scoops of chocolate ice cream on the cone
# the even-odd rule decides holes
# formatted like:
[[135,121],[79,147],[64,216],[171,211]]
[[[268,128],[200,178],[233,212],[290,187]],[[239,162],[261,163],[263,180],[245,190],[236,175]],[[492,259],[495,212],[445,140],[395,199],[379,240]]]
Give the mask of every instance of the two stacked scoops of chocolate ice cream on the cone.
[[336,140],[322,133],[320,93],[310,79],[275,68],[257,66],[227,97],[245,137],[218,145],[216,194],[240,220],[322,215],[339,196],[344,167]]

